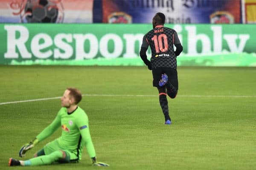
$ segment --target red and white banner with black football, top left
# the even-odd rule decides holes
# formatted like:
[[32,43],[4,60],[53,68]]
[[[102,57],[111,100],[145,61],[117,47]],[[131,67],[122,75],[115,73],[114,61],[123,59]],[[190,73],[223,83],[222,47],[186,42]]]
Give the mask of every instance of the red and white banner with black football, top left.
[[0,23],[92,23],[93,0],[0,0]]

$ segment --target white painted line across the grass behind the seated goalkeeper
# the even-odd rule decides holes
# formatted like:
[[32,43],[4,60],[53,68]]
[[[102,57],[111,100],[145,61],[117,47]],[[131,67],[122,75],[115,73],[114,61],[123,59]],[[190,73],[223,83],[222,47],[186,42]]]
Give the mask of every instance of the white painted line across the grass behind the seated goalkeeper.
[[[155,97],[157,95],[131,95],[131,94],[83,94],[82,96],[110,96],[110,97]],[[215,96],[215,95],[178,95],[177,97],[221,97],[221,98],[256,98],[256,96]],[[61,97],[50,97],[42,99],[31,99],[31,100],[21,100],[15,102],[3,102],[0,105],[7,105],[12,103],[22,103],[22,102],[35,102],[41,100],[51,100],[51,99],[60,99]]]

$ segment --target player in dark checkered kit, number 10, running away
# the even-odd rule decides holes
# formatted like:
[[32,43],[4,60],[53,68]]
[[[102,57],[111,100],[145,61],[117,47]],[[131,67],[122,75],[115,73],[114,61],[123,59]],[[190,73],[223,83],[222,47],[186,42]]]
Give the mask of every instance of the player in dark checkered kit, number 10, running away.
[[[178,91],[177,60],[183,50],[177,32],[168,27],[164,27],[165,15],[158,12],[154,15],[153,29],[143,37],[140,49],[140,57],[152,70],[153,86],[159,92],[159,102],[165,117],[165,124],[172,124],[169,116],[168,101],[166,96],[174,99]],[[176,51],[174,51],[174,47]],[[151,59],[147,59],[146,51],[151,48]]]

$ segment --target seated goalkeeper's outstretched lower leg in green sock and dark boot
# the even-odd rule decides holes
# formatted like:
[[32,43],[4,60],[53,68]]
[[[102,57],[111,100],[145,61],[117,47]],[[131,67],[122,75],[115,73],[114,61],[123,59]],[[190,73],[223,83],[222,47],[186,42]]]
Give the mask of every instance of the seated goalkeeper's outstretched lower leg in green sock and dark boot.
[[52,164],[55,161],[69,162],[70,155],[69,153],[63,150],[57,150],[50,153],[49,155],[37,156],[35,158],[19,161],[13,158],[9,159],[9,166],[37,166],[37,165],[47,165]]

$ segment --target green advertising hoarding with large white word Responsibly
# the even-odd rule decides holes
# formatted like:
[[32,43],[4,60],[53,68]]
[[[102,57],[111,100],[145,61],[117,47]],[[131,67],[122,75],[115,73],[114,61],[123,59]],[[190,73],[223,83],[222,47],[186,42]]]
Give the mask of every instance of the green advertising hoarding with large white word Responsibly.
[[[256,66],[256,25],[169,25],[183,45],[180,65]],[[151,24],[0,24],[0,64],[144,65]],[[150,50],[147,51],[150,57]]]

